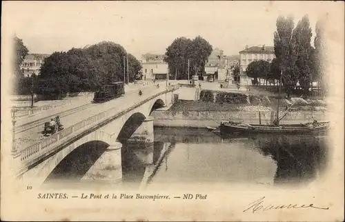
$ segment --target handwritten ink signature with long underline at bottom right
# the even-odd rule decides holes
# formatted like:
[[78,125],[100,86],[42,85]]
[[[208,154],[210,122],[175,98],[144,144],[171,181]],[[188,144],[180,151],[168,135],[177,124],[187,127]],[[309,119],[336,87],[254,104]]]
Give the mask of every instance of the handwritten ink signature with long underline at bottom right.
[[315,209],[318,209],[318,210],[328,210],[328,208],[320,208],[320,207],[317,207],[315,205],[313,205],[313,203],[310,203],[309,205],[298,205],[298,204],[288,204],[288,205],[271,205],[271,204],[268,204],[268,205],[265,205],[264,204],[264,199],[265,199],[265,196],[260,198],[260,199],[257,199],[256,201],[252,202],[252,203],[249,203],[247,206],[246,206],[246,210],[244,210],[243,212],[246,212],[246,211],[252,211],[253,214],[259,210],[262,210],[262,211],[268,211],[268,210],[279,210],[279,209],[298,209],[298,208],[315,208]]

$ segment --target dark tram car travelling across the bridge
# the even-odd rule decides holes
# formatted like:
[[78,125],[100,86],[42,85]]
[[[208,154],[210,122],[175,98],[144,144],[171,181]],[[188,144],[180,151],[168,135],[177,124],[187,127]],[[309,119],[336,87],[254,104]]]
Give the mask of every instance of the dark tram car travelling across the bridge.
[[95,92],[95,97],[93,101],[96,103],[109,101],[110,99],[115,99],[121,97],[125,94],[124,82],[110,83],[102,85],[97,92]]

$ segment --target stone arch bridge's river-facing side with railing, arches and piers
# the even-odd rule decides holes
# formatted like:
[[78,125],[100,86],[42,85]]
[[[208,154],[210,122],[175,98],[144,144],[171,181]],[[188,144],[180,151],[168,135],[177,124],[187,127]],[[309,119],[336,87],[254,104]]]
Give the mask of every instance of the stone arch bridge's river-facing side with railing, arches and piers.
[[177,85],[169,85],[161,92],[139,97],[141,101],[135,101],[135,104],[119,104],[110,110],[99,110],[99,114],[20,150],[13,154],[13,166],[18,178],[39,186],[71,153],[79,150],[80,154],[87,156],[88,150],[84,148],[93,145],[103,148],[104,152],[85,172],[85,176],[92,179],[97,175],[100,180],[120,181],[122,144],[128,141],[153,143],[153,118],[150,113],[171,105],[176,89]]

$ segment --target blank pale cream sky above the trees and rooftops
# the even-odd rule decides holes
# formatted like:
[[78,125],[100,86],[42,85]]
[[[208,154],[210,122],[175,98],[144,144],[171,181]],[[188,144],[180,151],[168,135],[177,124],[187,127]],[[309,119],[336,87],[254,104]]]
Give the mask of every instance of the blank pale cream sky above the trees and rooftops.
[[293,14],[295,24],[308,14],[313,43],[317,17],[330,7],[306,1],[13,1],[3,3],[3,17],[11,18],[4,22],[11,22],[30,53],[113,41],[139,59],[147,52],[164,54],[177,37],[197,35],[226,55],[246,45],[273,46],[279,14]]

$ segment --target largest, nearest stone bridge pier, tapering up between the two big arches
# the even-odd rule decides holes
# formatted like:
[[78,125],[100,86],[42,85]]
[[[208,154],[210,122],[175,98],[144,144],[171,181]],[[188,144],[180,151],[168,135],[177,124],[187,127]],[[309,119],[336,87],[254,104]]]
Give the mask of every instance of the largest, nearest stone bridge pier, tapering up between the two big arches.
[[122,180],[121,148],[122,144],[119,142],[110,144],[81,180],[120,182]]

